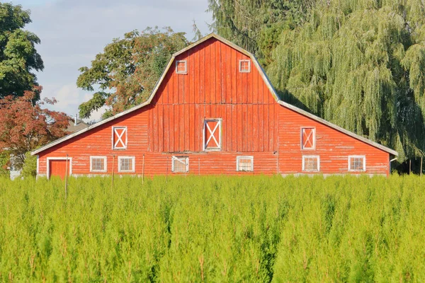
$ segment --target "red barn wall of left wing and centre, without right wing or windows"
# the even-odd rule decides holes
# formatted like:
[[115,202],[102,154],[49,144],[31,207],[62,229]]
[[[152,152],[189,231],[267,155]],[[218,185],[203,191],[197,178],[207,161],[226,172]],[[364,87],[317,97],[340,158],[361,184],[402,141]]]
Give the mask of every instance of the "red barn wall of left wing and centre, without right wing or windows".
[[[90,156],[107,156],[110,174],[118,156],[135,156],[135,173],[171,174],[171,156],[189,157],[193,174],[253,174],[236,171],[237,156],[254,156],[254,173],[278,171],[278,108],[261,74],[239,72],[249,57],[211,38],[176,57],[188,62],[188,74],[167,72],[152,103],[124,117],[64,141],[39,154],[39,174],[47,157],[72,157],[72,175],[90,172]],[[222,150],[203,151],[205,118],[222,119]],[[128,146],[112,150],[112,127],[128,127]]]

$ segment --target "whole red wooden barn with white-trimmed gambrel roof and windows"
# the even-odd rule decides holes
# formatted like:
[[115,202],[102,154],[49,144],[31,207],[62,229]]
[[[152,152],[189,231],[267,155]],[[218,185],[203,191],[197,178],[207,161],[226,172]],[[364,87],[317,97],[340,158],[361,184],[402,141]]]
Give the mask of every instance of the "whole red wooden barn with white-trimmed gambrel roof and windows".
[[383,174],[397,152],[278,98],[217,35],[174,54],[149,99],[33,151],[38,176]]

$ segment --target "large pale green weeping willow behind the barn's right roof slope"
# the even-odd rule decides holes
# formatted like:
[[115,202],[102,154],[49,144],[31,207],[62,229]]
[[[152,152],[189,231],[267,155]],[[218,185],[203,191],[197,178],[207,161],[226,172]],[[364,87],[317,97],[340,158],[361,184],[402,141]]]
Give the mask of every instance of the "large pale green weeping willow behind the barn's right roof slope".
[[268,75],[284,100],[399,152],[425,149],[425,4],[320,0],[283,30]]

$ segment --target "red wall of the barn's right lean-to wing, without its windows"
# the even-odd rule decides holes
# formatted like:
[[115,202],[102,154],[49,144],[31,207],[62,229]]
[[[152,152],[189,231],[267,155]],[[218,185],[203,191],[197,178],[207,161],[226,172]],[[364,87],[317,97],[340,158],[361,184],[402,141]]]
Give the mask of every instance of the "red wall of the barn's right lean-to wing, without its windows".
[[[387,175],[390,156],[387,152],[354,139],[310,117],[285,107],[279,108],[279,171],[283,174],[302,172],[302,156],[319,156],[319,174],[346,174],[348,156],[365,156],[366,171],[360,173]],[[301,128],[316,129],[314,150],[301,149]],[[309,172],[310,173],[310,172]]]

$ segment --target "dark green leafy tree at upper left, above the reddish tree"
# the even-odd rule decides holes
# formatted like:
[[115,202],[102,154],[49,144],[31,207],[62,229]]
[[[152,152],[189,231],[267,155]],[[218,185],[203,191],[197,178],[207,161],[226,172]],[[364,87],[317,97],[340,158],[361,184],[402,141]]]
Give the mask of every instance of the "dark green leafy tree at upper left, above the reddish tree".
[[35,50],[40,38],[23,29],[30,22],[30,11],[0,3],[0,98],[23,96],[38,86],[33,71],[42,71],[44,65]]

